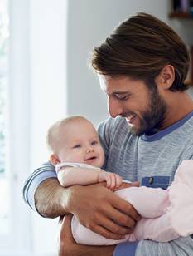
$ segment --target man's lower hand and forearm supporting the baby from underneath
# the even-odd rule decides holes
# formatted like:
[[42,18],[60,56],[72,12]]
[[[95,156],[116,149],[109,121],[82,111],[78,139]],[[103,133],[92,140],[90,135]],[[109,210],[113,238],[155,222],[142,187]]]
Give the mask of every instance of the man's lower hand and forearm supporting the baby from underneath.
[[72,215],[65,215],[60,224],[59,256],[112,256],[114,245],[88,246],[76,244],[71,233]]

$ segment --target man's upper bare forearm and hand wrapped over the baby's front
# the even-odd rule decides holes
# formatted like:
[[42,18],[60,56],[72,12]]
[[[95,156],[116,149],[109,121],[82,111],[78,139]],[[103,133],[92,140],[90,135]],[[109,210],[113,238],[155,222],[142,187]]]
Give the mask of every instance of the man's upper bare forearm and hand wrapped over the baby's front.
[[49,179],[36,189],[35,201],[40,214],[51,218],[74,214],[80,224],[109,239],[123,239],[140,219],[132,204],[104,185],[77,185],[65,189],[57,180]]

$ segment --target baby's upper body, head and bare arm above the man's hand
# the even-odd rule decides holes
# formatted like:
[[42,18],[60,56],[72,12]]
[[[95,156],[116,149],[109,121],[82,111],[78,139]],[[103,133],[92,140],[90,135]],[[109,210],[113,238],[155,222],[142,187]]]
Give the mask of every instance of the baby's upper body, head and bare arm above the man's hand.
[[100,169],[104,164],[104,150],[94,126],[84,117],[71,116],[57,121],[48,130],[47,144],[60,185],[68,187],[106,181],[107,187],[113,190],[122,184],[119,175]]

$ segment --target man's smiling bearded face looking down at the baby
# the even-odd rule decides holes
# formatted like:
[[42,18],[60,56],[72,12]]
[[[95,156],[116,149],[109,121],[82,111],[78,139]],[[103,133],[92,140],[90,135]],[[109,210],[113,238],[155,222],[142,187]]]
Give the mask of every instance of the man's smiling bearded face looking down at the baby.
[[108,96],[110,116],[125,117],[133,134],[142,135],[152,128],[162,128],[167,106],[157,87],[152,85],[150,90],[143,81],[128,76],[99,75],[99,81]]

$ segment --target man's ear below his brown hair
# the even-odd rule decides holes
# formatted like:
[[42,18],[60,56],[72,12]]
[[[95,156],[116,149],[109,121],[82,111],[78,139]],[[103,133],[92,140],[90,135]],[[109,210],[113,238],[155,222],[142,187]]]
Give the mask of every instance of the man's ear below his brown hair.
[[155,81],[157,86],[163,90],[169,89],[175,80],[175,69],[172,65],[166,65],[162,68]]

